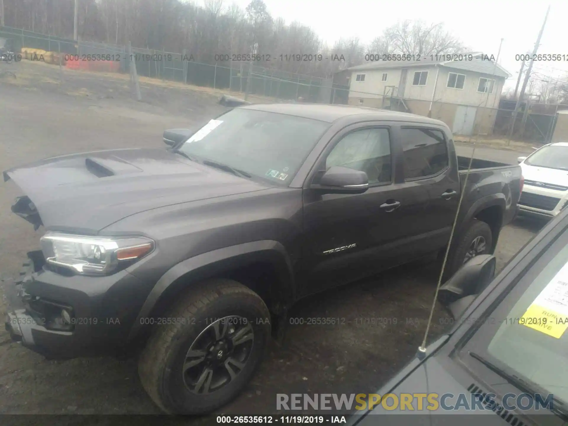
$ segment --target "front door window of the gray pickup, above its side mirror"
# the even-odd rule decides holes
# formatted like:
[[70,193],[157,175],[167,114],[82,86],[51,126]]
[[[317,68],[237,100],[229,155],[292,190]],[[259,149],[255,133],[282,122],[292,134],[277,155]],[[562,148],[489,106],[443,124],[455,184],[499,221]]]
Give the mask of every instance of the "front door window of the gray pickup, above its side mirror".
[[367,128],[348,133],[325,160],[325,169],[343,166],[365,172],[369,183],[391,181],[389,131]]

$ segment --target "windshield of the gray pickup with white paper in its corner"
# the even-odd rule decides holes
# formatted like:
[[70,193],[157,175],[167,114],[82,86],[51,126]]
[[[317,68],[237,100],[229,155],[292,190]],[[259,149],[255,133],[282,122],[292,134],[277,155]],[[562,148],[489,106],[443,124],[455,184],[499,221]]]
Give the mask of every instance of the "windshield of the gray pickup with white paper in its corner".
[[210,120],[179,151],[288,185],[329,123],[236,108]]

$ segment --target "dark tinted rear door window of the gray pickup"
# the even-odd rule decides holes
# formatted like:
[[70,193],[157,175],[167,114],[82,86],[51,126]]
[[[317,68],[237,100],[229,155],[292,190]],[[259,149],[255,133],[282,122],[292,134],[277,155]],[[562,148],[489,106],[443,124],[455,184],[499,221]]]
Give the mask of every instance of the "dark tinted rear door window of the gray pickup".
[[448,167],[448,149],[441,130],[400,130],[406,179],[432,176]]

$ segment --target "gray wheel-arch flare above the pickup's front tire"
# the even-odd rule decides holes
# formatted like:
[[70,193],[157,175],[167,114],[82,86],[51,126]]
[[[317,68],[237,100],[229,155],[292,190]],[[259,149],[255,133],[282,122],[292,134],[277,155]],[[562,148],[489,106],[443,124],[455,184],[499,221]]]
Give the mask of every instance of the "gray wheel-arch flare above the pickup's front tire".
[[294,300],[296,289],[293,266],[286,248],[281,243],[273,240],[261,240],[232,245],[190,257],[174,265],[162,275],[146,298],[135,323],[132,325],[128,340],[139,336],[147,327],[147,325],[142,324],[142,319],[151,315],[153,308],[170,286],[179,285],[178,280],[180,278],[183,278],[183,285],[191,285],[191,283],[203,281],[219,273],[258,261],[268,261],[277,270],[279,279],[272,285],[277,286],[274,290],[277,290],[278,299],[284,303]]

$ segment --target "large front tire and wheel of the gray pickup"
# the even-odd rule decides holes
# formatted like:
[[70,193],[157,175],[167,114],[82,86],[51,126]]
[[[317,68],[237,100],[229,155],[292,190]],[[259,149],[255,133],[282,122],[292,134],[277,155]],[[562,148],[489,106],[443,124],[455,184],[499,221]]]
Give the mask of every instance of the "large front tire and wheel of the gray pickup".
[[[270,313],[264,301],[239,282],[212,279],[181,296],[164,317],[172,319],[173,323],[154,325],[138,365],[140,381],[153,402],[168,414],[198,415],[214,411],[239,395],[260,365],[270,337]],[[215,323],[219,332],[224,331],[225,339],[213,343],[216,346],[205,345],[216,333]],[[245,329],[248,331],[243,331]],[[249,338],[250,329],[252,339]],[[228,339],[231,333],[235,337],[241,333],[240,336],[245,336],[241,337],[243,342],[233,345],[237,339]],[[189,358],[192,362],[201,360],[203,353],[207,356],[187,369],[185,375],[183,365],[190,348],[197,348],[192,349],[192,353],[198,354]],[[217,359],[216,355],[220,353],[222,358]],[[240,366],[234,364],[235,360]],[[211,367],[205,367],[199,373],[207,365]],[[206,373],[207,369],[214,369],[214,373]],[[236,376],[233,377],[229,370],[237,373]],[[199,378],[203,377],[206,379],[199,385]],[[226,384],[214,389],[220,378]],[[211,392],[204,394],[206,387]]]

